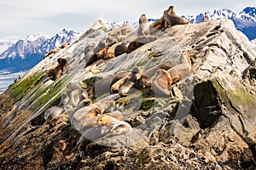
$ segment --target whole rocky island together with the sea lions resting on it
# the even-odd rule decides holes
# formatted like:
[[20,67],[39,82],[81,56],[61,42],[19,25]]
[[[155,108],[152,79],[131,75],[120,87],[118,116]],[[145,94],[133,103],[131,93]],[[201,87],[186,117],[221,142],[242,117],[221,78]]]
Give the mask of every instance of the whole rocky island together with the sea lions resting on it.
[[0,167],[255,168],[255,44],[165,14],[99,20],[1,94]]

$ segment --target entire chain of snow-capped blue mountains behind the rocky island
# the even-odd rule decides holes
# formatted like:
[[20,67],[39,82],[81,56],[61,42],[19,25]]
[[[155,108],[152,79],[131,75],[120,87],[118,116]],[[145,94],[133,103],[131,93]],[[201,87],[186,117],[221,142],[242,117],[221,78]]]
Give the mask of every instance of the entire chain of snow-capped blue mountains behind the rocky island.
[[[210,17],[210,20],[230,19],[234,22],[236,29],[247,35],[249,40],[256,38],[255,7],[244,8],[238,14],[227,8],[206,12]],[[202,22],[203,16],[203,13],[183,15],[183,17],[189,19],[191,23]],[[149,22],[154,22],[154,20],[157,19],[148,19]],[[130,22],[127,20],[113,21],[110,23],[113,27],[119,27],[123,24],[131,25],[134,28],[137,27],[137,22]],[[53,37],[37,34],[20,39],[0,54],[0,71],[17,72],[29,70],[44,58],[44,54],[59,47],[61,43],[72,42],[78,35],[78,32],[63,29]]]

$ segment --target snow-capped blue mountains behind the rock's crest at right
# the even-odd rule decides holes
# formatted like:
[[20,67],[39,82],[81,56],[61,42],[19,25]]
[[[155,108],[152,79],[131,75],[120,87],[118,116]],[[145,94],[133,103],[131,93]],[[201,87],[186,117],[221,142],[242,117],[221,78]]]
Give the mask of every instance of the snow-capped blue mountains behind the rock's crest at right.
[[[219,10],[206,11],[210,20],[233,20],[236,29],[247,35],[249,40],[256,38],[256,8],[244,8],[239,14],[234,13],[230,9],[224,8]],[[203,21],[204,14],[183,16],[190,20],[191,23],[200,23]]]

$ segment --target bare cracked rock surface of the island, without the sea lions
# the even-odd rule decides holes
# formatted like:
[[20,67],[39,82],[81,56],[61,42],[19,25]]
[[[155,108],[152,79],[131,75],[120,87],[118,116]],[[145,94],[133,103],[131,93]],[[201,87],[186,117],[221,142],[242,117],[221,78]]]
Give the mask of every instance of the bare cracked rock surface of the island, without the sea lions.
[[[256,52],[230,20],[172,26],[129,54],[96,60],[84,68],[84,48],[96,47],[108,31],[108,26],[96,23],[66,51],[44,59],[0,96],[0,167],[255,167]],[[111,97],[109,84],[118,71],[135,66],[148,71],[167,62],[182,65],[183,51],[189,52],[192,68],[172,83],[169,97],[158,98],[150,88],[133,87],[127,96],[113,98],[115,105],[109,112],[120,111],[131,133],[89,141],[80,157],[77,143],[82,134],[64,114],[44,122],[44,112],[60,103],[61,93],[70,93],[69,82],[86,88],[97,103]],[[71,71],[58,81],[45,82],[42,72],[59,57],[67,59]]]

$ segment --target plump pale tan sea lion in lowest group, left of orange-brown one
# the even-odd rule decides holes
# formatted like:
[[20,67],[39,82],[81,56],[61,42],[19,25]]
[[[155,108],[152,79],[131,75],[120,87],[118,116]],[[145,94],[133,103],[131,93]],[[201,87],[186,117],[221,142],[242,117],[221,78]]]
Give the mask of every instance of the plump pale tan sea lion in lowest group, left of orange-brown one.
[[74,129],[84,133],[90,127],[97,125],[97,116],[103,114],[104,111],[110,109],[115,104],[113,99],[102,99],[95,104],[85,106],[75,111],[71,116],[71,124]]

